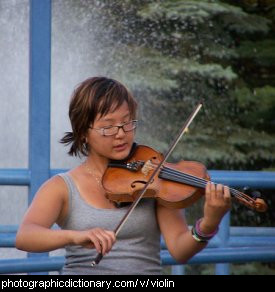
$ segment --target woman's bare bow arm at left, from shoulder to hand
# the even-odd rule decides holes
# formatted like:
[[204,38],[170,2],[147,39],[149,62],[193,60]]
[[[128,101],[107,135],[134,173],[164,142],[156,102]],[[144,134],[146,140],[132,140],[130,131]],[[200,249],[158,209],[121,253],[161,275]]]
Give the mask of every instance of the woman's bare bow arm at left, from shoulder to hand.
[[94,228],[84,231],[51,229],[61,224],[68,212],[68,189],[64,180],[55,176],[41,186],[35,195],[16,235],[15,246],[29,252],[46,252],[66,245],[96,248],[103,254],[115,242],[112,231]]

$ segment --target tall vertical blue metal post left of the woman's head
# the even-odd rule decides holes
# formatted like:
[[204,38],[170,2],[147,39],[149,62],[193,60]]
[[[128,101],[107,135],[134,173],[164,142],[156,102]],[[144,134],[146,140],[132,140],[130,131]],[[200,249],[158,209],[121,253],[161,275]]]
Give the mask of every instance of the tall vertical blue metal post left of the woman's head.
[[[29,79],[30,204],[50,177],[51,0],[30,0]],[[41,254],[29,254],[36,256]]]

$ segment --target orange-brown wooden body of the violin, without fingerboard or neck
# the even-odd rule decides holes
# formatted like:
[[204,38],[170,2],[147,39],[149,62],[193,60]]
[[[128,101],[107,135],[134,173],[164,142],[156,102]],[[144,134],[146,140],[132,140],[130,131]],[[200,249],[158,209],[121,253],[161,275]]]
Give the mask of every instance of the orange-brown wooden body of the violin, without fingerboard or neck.
[[[119,203],[133,202],[150,178],[154,166],[161,160],[161,153],[148,146],[140,145],[127,161],[112,163],[102,179],[107,198]],[[199,162],[165,163],[165,167],[209,179],[205,166]],[[192,205],[204,194],[203,189],[191,185],[185,185],[183,188],[181,182],[171,183],[171,178],[165,179],[161,178],[162,176],[165,176],[163,169],[147,188],[144,198],[155,198],[166,207],[178,209]]]

